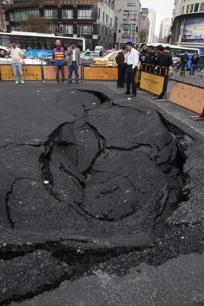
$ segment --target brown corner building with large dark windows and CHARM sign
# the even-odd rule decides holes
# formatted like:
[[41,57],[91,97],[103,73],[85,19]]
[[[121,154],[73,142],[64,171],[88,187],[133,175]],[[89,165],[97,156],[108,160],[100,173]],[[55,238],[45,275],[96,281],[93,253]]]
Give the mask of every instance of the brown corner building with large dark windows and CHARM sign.
[[[54,34],[84,37],[89,49],[101,45],[109,49],[114,44],[115,0],[30,0],[5,5],[7,31],[20,31],[17,20],[28,13],[52,19]],[[63,33],[59,33],[63,24]]]

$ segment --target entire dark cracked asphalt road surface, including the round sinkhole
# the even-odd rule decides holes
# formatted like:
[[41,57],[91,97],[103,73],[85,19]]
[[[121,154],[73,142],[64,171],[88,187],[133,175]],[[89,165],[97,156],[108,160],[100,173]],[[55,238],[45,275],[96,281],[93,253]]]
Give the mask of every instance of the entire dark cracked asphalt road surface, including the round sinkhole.
[[204,302],[203,137],[99,85],[0,107],[0,304]]

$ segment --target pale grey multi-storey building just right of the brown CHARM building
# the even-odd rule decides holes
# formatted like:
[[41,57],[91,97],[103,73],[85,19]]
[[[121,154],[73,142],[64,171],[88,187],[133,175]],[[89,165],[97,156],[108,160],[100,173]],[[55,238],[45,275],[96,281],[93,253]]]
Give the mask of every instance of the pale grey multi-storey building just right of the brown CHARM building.
[[138,33],[135,33],[136,25],[140,25],[140,0],[115,0],[115,15],[117,16],[116,43],[125,44],[129,39],[138,42]]

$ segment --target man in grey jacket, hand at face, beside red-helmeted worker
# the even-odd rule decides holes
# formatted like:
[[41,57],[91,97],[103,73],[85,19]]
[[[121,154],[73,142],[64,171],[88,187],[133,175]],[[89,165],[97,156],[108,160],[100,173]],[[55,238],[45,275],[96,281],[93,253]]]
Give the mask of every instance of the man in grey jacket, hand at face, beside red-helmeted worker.
[[75,72],[75,82],[79,84],[79,72],[78,67],[82,64],[80,58],[80,49],[76,47],[75,42],[71,42],[71,46],[67,49],[67,55],[69,56],[68,59],[68,66],[69,66],[69,75],[68,75],[68,83],[71,82],[72,72]]

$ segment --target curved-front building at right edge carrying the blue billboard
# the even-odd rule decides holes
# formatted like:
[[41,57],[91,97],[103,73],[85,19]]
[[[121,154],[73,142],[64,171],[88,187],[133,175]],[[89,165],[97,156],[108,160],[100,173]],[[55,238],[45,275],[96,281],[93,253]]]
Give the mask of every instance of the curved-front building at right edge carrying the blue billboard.
[[170,42],[186,47],[198,47],[200,54],[204,54],[203,0],[175,0]]

